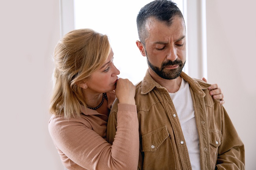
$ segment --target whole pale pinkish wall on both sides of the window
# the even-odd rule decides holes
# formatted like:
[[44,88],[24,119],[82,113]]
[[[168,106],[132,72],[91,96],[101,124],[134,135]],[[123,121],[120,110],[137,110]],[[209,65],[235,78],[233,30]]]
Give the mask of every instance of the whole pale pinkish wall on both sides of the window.
[[[256,167],[255,1],[206,1],[208,80],[245,143],[246,167]],[[240,11],[239,11],[240,10]],[[6,170],[63,170],[47,129],[51,55],[60,38],[58,0],[0,5],[0,162]]]

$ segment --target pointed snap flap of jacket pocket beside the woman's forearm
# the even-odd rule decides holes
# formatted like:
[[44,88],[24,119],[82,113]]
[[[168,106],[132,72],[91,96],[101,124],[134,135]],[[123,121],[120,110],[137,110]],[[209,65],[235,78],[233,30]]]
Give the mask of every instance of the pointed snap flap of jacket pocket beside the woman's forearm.
[[166,126],[142,135],[142,152],[155,151],[169,136]]

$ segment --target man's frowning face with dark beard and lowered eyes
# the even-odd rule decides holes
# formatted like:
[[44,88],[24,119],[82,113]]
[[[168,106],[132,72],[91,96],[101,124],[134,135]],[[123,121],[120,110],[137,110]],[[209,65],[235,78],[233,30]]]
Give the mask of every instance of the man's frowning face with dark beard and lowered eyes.
[[147,56],[150,75],[154,71],[163,79],[178,78],[186,62],[186,29],[183,18],[174,17],[171,26],[156,18],[149,18],[146,26],[149,36],[142,50]]

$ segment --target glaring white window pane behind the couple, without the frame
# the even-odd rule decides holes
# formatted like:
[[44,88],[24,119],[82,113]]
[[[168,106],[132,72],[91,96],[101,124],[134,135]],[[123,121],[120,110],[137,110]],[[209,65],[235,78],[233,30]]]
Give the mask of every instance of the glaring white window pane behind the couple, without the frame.
[[[74,0],[75,29],[91,28],[109,36],[114,51],[114,64],[120,70],[119,77],[134,84],[145,76],[147,66],[136,46],[137,13],[152,0]],[[174,0],[183,11],[182,0]],[[100,5],[99,5],[100,4]]]

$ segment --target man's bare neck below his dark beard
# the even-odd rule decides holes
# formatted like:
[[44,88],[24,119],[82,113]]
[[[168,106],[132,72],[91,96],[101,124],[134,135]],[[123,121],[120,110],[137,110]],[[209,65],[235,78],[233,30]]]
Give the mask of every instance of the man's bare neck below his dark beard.
[[151,75],[152,79],[154,79],[158,84],[165,87],[169,93],[175,93],[180,89],[180,84],[182,81],[182,78],[179,76],[176,79],[173,80],[167,80],[161,78],[159,75],[157,75],[154,71],[151,69],[148,70],[149,74]]

